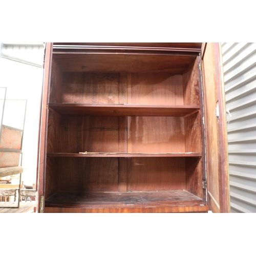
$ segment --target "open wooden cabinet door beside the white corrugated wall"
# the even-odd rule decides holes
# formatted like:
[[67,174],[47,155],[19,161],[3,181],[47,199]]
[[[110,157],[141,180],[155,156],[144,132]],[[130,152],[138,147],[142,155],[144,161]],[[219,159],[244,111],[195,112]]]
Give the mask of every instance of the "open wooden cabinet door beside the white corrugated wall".
[[207,170],[207,201],[212,212],[229,212],[226,108],[219,43],[201,52]]

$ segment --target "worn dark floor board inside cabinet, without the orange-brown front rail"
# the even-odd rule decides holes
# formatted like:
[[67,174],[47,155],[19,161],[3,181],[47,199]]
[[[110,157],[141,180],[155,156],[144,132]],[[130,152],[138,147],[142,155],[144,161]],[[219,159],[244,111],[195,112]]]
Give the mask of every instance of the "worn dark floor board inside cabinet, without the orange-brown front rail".
[[[129,208],[159,206],[207,207],[203,200],[186,190],[132,192],[58,192],[46,200],[46,207]],[[204,207],[203,207],[204,206]],[[204,209],[205,210],[205,209]]]

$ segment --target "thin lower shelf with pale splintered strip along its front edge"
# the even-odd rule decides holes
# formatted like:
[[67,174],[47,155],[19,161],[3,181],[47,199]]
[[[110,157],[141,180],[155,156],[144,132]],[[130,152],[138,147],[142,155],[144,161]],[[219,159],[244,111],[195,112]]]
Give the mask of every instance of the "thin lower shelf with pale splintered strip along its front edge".
[[47,153],[47,157],[202,157],[202,153]]

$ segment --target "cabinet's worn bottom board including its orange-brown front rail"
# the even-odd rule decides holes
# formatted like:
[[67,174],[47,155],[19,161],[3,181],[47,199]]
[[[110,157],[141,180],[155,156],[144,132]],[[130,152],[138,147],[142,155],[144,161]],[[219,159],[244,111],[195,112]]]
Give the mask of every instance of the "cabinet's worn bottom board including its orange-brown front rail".
[[136,192],[59,192],[45,212],[207,212],[207,203],[186,190]]

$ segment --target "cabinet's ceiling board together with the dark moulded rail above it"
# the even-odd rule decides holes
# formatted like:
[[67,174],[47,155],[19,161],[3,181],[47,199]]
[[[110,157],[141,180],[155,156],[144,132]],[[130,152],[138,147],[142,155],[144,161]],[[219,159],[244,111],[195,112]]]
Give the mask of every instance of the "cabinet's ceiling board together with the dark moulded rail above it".
[[199,56],[201,43],[61,43],[53,58],[63,72],[182,74]]

